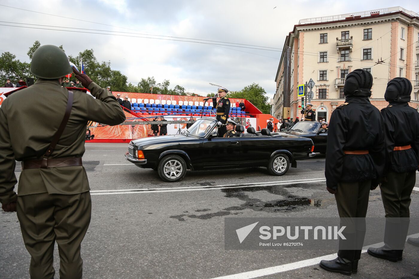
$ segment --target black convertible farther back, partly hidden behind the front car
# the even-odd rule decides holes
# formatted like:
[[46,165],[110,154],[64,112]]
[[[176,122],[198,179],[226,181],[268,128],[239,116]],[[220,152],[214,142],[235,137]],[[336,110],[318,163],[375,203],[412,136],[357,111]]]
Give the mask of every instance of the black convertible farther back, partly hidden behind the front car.
[[327,130],[321,129],[321,124],[315,121],[300,121],[286,132],[279,132],[280,135],[294,135],[308,137],[313,140],[314,152],[326,153]]

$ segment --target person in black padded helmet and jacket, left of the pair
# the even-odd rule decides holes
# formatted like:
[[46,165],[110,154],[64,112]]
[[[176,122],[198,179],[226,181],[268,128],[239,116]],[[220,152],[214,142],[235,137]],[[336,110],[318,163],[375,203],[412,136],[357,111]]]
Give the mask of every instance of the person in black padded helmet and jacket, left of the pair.
[[332,113],[326,150],[326,189],[335,195],[346,226],[339,239],[337,258],[323,260],[320,267],[351,275],[357,272],[365,238],[365,216],[370,190],[384,171],[384,123],[370,103],[372,75],[357,69],[347,75],[345,103]]

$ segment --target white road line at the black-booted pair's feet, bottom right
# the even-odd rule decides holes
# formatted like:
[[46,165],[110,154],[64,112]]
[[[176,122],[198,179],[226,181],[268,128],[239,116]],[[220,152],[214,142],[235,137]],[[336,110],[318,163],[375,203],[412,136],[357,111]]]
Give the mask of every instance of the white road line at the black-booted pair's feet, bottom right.
[[[419,236],[419,233],[416,233],[414,235],[408,235],[407,237],[408,238],[409,237],[416,238],[418,236]],[[381,247],[382,245],[384,245],[383,242],[364,246],[364,247],[362,247],[362,249],[363,249],[362,253],[367,252],[367,249],[370,248],[370,247]],[[313,266],[313,265],[319,264],[321,260],[330,261],[330,260],[335,259],[336,257],[337,257],[337,253],[326,255],[326,256],[321,256],[321,257],[317,257],[317,258],[310,258],[308,260],[297,261],[295,263],[283,264],[283,265],[280,265],[280,266],[272,266],[272,267],[268,267],[266,269],[258,269],[258,270],[247,271],[247,272],[242,272],[242,273],[238,273],[238,274],[220,276],[220,277],[216,277],[216,278],[212,278],[212,279],[251,279],[251,278],[257,278],[257,277],[260,277],[260,276],[272,275],[272,274],[277,274],[277,273],[281,273],[281,272],[284,272],[284,271],[290,271],[290,270],[300,269],[300,268],[307,267],[307,266]]]

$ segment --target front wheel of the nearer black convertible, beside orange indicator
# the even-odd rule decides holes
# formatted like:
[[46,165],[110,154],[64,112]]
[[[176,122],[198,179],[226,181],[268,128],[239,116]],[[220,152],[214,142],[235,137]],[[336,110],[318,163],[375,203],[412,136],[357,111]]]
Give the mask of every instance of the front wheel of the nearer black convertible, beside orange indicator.
[[186,163],[179,155],[168,155],[160,160],[157,171],[164,181],[177,182],[185,176]]

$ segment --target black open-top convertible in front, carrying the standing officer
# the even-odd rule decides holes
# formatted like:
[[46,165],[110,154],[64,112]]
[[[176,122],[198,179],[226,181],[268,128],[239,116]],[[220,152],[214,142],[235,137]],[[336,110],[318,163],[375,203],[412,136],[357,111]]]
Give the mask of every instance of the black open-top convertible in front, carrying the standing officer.
[[272,175],[296,168],[296,160],[313,157],[313,142],[291,134],[271,135],[268,129],[256,134],[253,127],[238,137],[217,137],[215,119],[199,119],[183,134],[132,140],[125,158],[140,168],[158,171],[161,179],[180,181],[192,171],[226,168],[267,167]]

